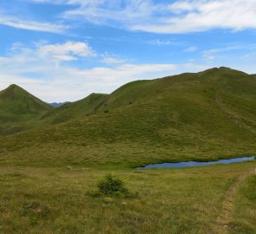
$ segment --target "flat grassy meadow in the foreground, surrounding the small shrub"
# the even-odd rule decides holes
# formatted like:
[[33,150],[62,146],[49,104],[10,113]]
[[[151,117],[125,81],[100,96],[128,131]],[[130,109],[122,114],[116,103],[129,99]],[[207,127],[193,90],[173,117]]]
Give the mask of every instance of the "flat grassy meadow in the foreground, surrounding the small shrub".
[[[216,220],[225,194],[255,166],[253,161],[164,170],[1,167],[0,233],[223,233]],[[138,197],[91,196],[108,172]],[[244,199],[255,188],[252,178],[240,186],[230,221],[255,231],[255,199]]]

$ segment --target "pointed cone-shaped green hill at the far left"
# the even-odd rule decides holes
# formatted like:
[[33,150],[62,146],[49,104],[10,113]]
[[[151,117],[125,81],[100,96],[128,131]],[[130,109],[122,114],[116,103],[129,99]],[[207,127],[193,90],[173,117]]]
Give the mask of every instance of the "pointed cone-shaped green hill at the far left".
[[[0,135],[33,126],[33,120],[52,107],[16,85],[0,92]],[[36,124],[35,124],[36,125]]]

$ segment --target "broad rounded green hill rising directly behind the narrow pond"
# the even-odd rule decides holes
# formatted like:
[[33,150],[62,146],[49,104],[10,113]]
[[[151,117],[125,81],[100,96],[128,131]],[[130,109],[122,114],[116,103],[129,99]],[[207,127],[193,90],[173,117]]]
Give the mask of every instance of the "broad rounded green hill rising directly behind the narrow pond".
[[229,68],[134,81],[50,110],[40,130],[1,138],[0,164],[140,166],[255,155],[255,91],[255,75]]

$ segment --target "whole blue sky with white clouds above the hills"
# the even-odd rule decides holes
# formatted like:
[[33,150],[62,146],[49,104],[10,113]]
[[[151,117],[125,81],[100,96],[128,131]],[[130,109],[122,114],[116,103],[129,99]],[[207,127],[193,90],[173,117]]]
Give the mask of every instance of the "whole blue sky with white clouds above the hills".
[[255,0],[0,0],[0,90],[43,101],[213,67],[256,74]]

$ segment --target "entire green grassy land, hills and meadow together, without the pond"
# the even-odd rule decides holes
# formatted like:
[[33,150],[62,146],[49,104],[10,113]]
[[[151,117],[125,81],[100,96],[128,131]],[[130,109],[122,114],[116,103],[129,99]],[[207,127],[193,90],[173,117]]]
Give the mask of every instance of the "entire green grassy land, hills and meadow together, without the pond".
[[229,68],[58,108],[12,85],[0,93],[0,233],[253,234],[255,160],[130,167],[256,155],[255,116],[256,76]]

